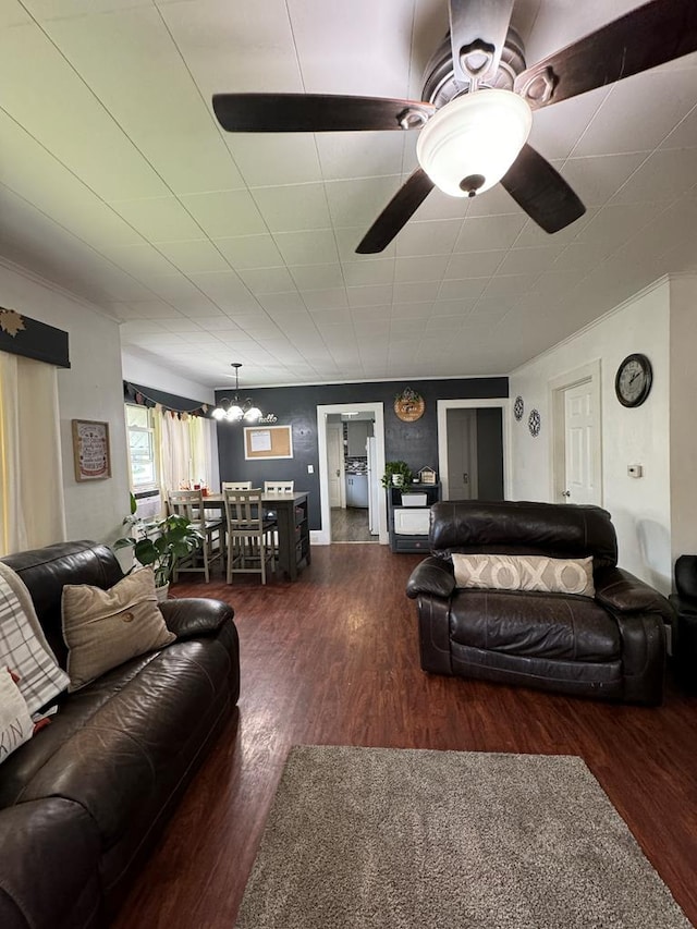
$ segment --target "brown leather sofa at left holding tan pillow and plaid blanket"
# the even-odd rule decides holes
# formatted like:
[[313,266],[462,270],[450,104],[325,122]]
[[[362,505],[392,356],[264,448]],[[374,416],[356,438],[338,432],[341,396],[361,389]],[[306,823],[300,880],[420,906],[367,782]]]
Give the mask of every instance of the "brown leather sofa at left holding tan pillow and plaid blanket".
[[[24,580],[64,668],[64,584],[123,577],[105,546],[65,542],[3,561]],[[51,723],[0,767],[0,926],[101,927],[122,901],[240,692],[232,609],[160,604],[176,639],[58,699]]]

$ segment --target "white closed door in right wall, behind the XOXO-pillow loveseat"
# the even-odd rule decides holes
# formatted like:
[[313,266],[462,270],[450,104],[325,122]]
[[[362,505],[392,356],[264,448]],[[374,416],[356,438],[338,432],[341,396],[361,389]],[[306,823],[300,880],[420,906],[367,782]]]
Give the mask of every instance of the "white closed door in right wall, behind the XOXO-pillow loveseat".
[[563,497],[570,503],[598,503],[595,445],[598,423],[595,391],[590,380],[564,391],[564,477]]

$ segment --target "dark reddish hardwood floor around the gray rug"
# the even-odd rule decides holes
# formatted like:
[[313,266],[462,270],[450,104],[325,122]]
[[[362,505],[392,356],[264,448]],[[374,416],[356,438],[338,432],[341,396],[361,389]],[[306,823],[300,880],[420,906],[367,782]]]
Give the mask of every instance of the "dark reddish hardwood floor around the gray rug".
[[697,925],[697,698],[669,681],[664,705],[647,709],[424,674],[404,596],[419,559],[315,548],[295,584],[217,576],[172,588],[234,606],[242,696],[118,929],[232,929],[297,743],[579,755]]

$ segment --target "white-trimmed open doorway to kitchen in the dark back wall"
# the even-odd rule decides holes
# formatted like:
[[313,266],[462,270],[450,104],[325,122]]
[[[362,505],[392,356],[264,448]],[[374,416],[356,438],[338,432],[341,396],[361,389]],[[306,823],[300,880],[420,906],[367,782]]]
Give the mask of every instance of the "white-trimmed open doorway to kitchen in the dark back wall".
[[317,407],[321,529],[317,545],[387,545],[382,403]]

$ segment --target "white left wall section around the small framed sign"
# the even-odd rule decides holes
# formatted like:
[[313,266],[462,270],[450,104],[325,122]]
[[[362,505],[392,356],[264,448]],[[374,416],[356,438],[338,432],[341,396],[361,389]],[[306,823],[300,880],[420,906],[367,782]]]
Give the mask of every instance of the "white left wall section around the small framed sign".
[[[115,320],[90,304],[0,261],[2,305],[69,333],[71,367],[58,372],[63,486],[69,539],[111,541],[129,512],[121,344]],[[111,474],[78,482],[73,468],[72,419],[109,424]]]

